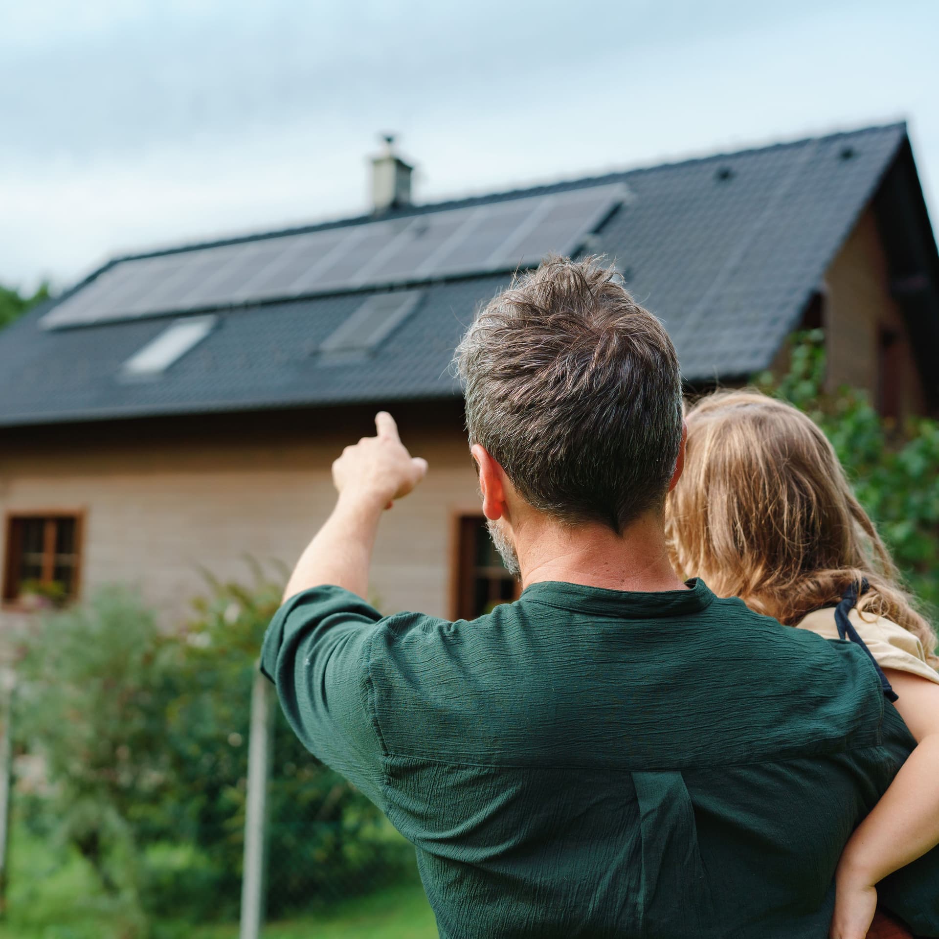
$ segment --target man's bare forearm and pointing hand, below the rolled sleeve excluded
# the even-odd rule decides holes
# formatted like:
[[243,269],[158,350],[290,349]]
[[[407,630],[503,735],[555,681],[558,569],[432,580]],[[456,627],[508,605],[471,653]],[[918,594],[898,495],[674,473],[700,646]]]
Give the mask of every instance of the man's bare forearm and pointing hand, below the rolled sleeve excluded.
[[387,411],[375,417],[377,435],[346,447],[332,464],[339,499],[331,516],[300,555],[284,599],[334,584],[365,597],[368,567],[381,513],[423,480],[427,461],[411,456]]

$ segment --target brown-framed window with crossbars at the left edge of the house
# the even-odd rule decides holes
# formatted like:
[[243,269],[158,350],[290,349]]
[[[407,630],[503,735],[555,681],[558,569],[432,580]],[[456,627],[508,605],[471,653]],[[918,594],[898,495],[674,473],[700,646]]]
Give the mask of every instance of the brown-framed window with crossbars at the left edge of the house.
[[78,593],[81,518],[15,515],[7,519],[3,599],[27,595],[64,603]]

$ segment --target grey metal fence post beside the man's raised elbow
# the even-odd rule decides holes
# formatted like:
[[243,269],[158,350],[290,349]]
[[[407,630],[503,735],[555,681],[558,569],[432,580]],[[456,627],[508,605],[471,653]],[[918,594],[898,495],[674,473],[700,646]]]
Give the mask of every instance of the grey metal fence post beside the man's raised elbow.
[[239,939],[259,939],[267,891],[268,779],[273,744],[274,696],[257,671],[251,691],[248,738],[248,804],[244,818],[244,865],[241,872]]

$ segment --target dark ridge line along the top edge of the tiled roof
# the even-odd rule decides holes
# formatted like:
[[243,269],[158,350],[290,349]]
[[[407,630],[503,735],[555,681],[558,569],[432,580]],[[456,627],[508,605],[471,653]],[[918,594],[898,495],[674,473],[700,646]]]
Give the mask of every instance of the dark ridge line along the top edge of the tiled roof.
[[553,182],[541,182],[534,186],[525,188],[516,188],[502,190],[500,192],[481,192],[477,195],[467,195],[460,198],[443,199],[439,202],[427,202],[419,205],[409,206],[390,212],[375,214],[362,214],[346,216],[338,219],[328,219],[323,222],[314,222],[301,225],[291,225],[285,228],[270,229],[267,231],[254,232],[254,234],[237,235],[230,238],[206,239],[184,242],[171,247],[158,248],[152,251],[132,252],[129,254],[115,254],[106,264],[101,265],[90,273],[81,283],[98,276],[105,268],[111,267],[121,261],[139,260],[146,257],[162,257],[167,254],[183,254],[188,251],[198,251],[205,248],[221,248],[230,244],[242,244],[246,241],[260,241],[265,239],[284,238],[289,235],[304,235],[309,232],[328,231],[331,228],[344,228],[350,225],[367,224],[376,221],[386,221],[395,219],[412,218],[416,215],[423,215],[428,212],[444,211],[451,208],[469,208],[481,203],[496,201],[508,201],[513,198],[524,198],[545,194],[546,192],[556,191],[559,187],[573,187],[577,185],[593,186],[602,185],[608,182],[621,181],[626,177],[641,173],[652,173],[660,170],[679,169],[694,163],[717,162],[720,160],[730,160],[731,158],[746,157],[753,153],[765,153],[771,150],[786,149],[794,146],[805,146],[810,143],[820,143],[822,141],[835,140],[839,137],[857,136],[872,132],[902,131],[906,133],[907,125],[905,120],[893,121],[887,124],[871,124],[865,127],[854,128],[854,130],[834,131],[832,133],[816,134],[807,137],[800,137],[796,140],[777,141],[776,143],[763,146],[747,146],[741,150],[720,151],[700,157],[687,157],[681,160],[650,163],[644,166],[634,166],[627,169],[610,170],[608,173],[596,176],[574,177],[566,179],[555,179]]

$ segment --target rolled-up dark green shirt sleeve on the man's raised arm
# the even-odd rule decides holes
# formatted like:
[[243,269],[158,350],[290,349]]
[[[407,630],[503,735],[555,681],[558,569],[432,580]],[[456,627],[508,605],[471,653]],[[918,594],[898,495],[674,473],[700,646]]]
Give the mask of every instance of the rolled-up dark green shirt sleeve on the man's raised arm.
[[381,807],[383,751],[369,666],[381,615],[341,587],[291,597],[271,621],[261,671],[303,746]]

